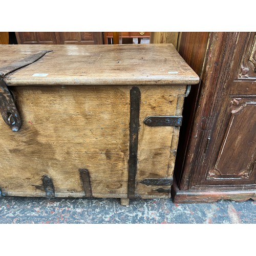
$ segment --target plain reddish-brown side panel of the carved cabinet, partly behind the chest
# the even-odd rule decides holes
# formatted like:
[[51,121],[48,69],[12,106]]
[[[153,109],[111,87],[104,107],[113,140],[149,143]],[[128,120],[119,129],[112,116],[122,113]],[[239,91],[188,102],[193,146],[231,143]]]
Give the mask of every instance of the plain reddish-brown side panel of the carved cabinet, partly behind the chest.
[[[180,32],[178,52],[186,60],[188,65],[199,75],[200,82],[190,89],[188,96],[184,99],[183,121],[180,128],[180,139],[174,174],[178,184],[183,172],[184,161],[187,156],[187,148],[193,119],[197,108],[197,99],[203,82],[203,71],[208,49],[209,32]],[[181,184],[182,185],[182,184]],[[182,185],[183,186],[183,185]]]

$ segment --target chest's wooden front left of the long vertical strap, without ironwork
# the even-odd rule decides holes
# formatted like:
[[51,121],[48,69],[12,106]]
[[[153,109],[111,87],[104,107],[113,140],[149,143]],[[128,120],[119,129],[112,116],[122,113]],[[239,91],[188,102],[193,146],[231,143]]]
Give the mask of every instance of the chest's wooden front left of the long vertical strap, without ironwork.
[[[43,191],[51,177],[58,193],[83,191],[79,169],[90,172],[92,194],[127,194],[130,88],[16,87],[23,125],[13,133],[0,120],[0,186]],[[125,185],[123,185],[125,182]]]

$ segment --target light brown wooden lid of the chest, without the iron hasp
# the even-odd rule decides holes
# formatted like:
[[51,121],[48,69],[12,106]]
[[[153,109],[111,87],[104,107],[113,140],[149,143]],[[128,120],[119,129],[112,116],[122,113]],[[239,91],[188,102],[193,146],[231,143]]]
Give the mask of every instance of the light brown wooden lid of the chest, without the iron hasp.
[[5,78],[6,83],[9,86],[158,86],[199,82],[197,74],[181,58],[172,44],[1,45],[0,67],[42,50],[53,51],[33,65],[8,75]]

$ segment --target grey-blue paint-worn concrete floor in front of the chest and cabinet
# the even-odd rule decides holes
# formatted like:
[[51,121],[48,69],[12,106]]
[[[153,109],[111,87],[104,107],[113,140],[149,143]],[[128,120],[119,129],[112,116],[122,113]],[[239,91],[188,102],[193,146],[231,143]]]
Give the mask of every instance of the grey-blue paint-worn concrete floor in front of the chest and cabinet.
[[174,204],[172,200],[0,198],[3,223],[256,223],[256,202],[221,200]]

